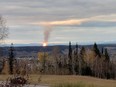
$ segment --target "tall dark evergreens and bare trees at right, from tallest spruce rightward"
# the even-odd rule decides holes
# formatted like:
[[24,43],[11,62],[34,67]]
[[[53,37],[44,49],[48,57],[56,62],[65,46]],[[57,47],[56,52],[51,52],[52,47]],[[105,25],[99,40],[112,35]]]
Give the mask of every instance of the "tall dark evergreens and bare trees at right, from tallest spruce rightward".
[[78,51],[72,53],[71,42],[69,43],[69,74],[90,75],[98,78],[115,79],[115,64],[110,61],[107,48],[100,51],[97,44],[94,43],[91,53],[87,52],[84,46]]

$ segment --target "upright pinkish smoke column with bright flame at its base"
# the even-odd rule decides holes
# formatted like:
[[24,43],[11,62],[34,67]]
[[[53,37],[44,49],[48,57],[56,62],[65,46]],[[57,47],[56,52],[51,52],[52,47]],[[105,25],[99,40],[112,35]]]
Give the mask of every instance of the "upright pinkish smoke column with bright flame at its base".
[[47,46],[48,44],[48,39],[50,37],[50,33],[52,30],[52,26],[51,25],[45,25],[45,30],[44,30],[44,41],[43,41],[43,46]]

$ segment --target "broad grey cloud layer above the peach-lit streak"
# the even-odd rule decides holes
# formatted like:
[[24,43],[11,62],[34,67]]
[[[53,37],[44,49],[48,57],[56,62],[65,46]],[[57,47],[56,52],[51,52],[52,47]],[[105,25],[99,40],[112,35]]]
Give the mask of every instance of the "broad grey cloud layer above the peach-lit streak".
[[115,0],[0,0],[8,25],[116,14]]

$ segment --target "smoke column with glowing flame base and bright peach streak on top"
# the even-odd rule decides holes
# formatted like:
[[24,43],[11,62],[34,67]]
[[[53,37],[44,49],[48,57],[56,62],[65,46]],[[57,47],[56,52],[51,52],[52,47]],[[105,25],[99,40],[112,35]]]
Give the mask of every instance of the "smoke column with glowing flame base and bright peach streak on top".
[[50,37],[50,33],[52,31],[53,26],[61,26],[61,25],[80,25],[82,22],[87,21],[88,19],[81,20],[65,20],[65,21],[53,21],[53,22],[41,22],[40,25],[45,27],[44,30],[44,41],[43,46],[48,45],[48,39]]

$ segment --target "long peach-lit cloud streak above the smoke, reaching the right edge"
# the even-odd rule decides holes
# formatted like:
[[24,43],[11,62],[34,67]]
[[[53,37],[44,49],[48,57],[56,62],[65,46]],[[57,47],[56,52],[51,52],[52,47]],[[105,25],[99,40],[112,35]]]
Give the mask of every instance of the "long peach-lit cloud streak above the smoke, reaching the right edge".
[[116,18],[116,14],[111,14],[111,15],[100,15],[100,16],[83,18],[83,19],[69,19],[69,20],[62,20],[62,21],[39,22],[39,23],[33,23],[33,24],[42,25],[42,26],[81,25],[82,23],[91,22],[91,21],[116,22],[115,18]]

